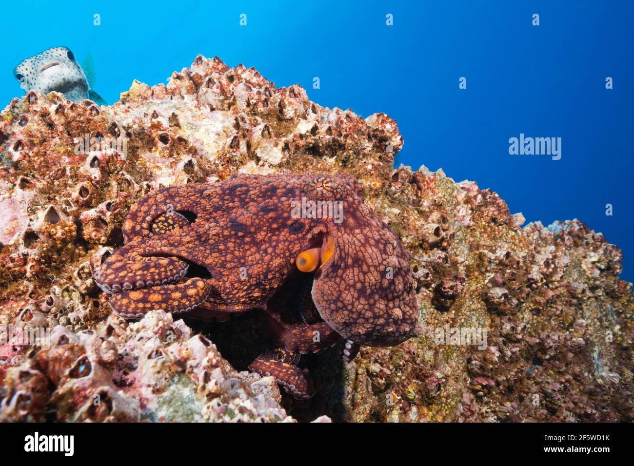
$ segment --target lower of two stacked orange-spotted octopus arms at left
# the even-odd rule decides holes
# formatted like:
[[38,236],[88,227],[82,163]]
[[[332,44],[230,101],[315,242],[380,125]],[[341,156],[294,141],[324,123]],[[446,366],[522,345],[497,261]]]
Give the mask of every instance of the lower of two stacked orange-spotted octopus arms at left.
[[149,311],[163,309],[183,313],[197,307],[209,294],[210,286],[202,278],[162,287],[124,291],[110,298],[110,307],[120,316],[139,318]]

